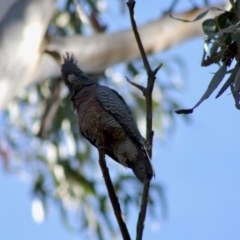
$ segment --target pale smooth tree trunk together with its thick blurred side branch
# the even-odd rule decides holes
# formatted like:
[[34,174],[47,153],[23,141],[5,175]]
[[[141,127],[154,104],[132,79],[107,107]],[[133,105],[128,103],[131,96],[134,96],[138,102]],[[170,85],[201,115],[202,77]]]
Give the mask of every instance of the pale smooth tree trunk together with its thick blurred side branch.
[[[2,1],[5,0],[0,0],[0,3]],[[19,0],[2,18],[0,110],[7,106],[22,87],[47,78],[60,77],[60,63],[65,52],[74,53],[79,66],[87,73],[101,72],[114,64],[140,58],[131,29],[89,37],[76,35],[53,39],[41,49],[44,33],[54,13],[54,4],[56,0]],[[175,16],[194,19],[204,10],[194,9]],[[207,18],[218,13],[210,12]],[[140,26],[139,33],[146,53],[160,52],[202,35],[201,22],[184,23],[166,15]]]

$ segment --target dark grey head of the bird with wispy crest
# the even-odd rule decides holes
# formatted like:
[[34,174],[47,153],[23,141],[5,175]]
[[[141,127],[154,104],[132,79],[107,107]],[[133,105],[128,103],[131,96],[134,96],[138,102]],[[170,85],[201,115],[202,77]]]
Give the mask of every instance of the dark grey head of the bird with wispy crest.
[[71,95],[81,90],[83,87],[94,84],[95,81],[89,78],[78,66],[77,61],[73,55],[66,53],[66,57],[63,57],[63,64],[61,68],[62,78],[65,84],[68,86]]

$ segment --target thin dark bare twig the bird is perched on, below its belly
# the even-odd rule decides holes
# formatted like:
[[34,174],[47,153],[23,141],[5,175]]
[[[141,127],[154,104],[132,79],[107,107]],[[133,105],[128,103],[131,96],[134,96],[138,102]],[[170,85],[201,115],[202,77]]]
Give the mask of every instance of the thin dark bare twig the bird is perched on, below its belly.
[[[99,128],[100,130],[101,128]],[[107,187],[108,195],[115,213],[115,216],[118,221],[119,228],[121,230],[121,234],[124,240],[131,240],[127,226],[125,224],[125,221],[122,216],[122,211],[120,204],[118,202],[118,198],[116,196],[111,177],[109,175],[108,167],[105,161],[105,141],[104,141],[104,136],[103,133],[100,131],[100,142],[103,144],[102,147],[98,148],[98,154],[99,154],[99,165],[102,170],[103,178]]]

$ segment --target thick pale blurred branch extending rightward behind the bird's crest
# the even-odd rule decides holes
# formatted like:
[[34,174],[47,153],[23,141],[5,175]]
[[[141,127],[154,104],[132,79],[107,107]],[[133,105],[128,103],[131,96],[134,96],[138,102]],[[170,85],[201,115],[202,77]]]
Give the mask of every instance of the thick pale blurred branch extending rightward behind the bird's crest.
[[[194,19],[205,10],[207,8],[192,9],[174,14],[174,16],[176,18]],[[217,13],[219,12],[209,12],[206,18],[191,24],[176,21],[168,15],[164,15],[160,19],[139,26],[138,31],[146,54],[160,52],[188,39],[203,35],[202,21],[213,18]],[[66,51],[74,52],[76,58],[79,59],[79,66],[86,73],[102,71],[114,64],[141,57],[134,41],[132,29],[87,37],[75,35],[61,39],[51,39],[46,45],[46,50],[57,52],[59,56],[63,56]]]

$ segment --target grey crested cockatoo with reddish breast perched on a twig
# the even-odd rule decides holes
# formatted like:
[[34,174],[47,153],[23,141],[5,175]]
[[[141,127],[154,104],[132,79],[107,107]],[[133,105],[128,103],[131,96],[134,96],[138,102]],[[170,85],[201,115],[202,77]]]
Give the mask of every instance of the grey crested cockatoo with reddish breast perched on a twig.
[[87,76],[73,54],[63,57],[61,74],[83,137],[96,148],[104,147],[108,156],[132,169],[142,183],[151,180],[154,169],[147,153],[148,144],[125,100],[114,89]]

